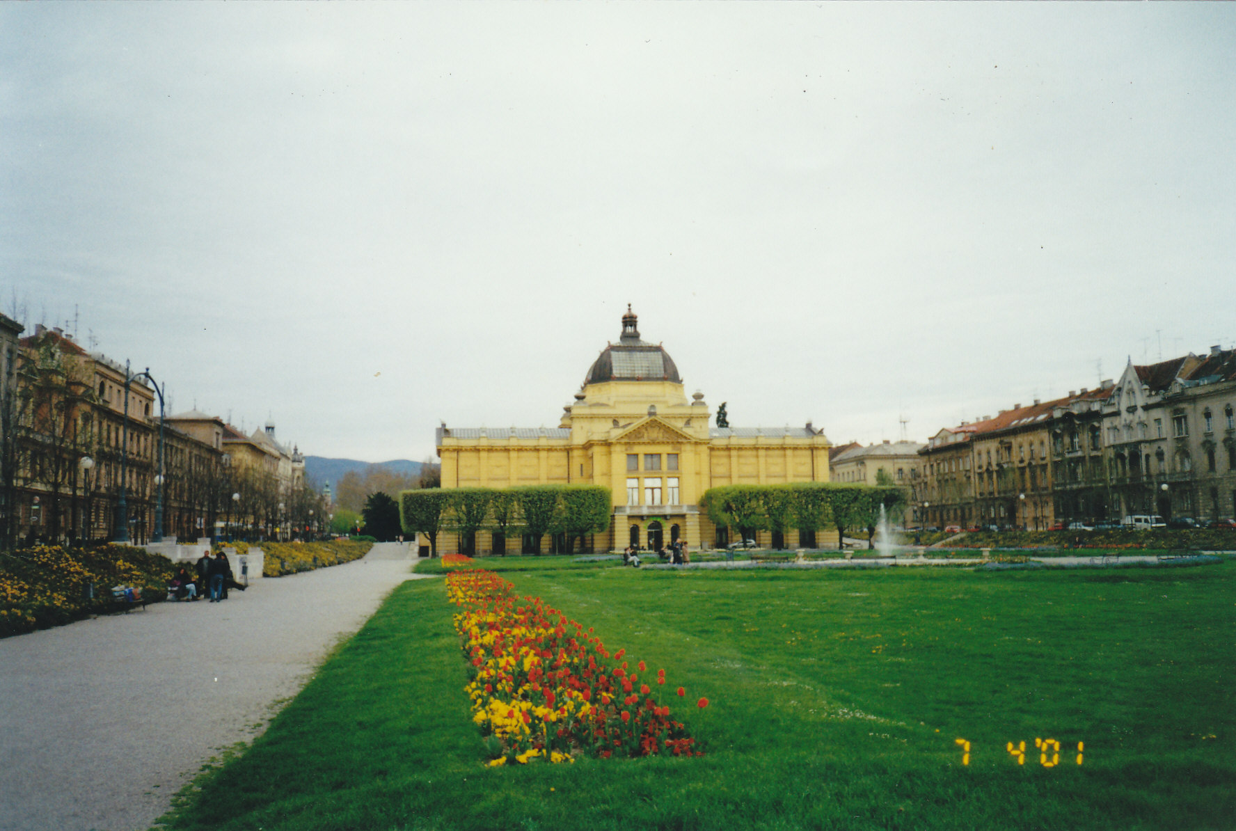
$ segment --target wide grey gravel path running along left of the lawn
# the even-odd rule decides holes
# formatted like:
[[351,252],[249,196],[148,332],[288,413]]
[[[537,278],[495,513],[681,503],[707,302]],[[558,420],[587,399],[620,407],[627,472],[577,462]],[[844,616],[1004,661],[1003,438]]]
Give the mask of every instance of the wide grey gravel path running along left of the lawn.
[[218,748],[250,741],[409,573],[346,565],[0,641],[0,831],[147,829]]

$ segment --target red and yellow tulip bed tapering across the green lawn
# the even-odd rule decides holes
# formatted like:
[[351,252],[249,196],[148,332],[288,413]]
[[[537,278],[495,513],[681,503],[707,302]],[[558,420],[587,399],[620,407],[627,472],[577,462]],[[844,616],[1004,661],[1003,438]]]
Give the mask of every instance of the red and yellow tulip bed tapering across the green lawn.
[[[447,597],[462,607],[454,620],[471,675],[465,689],[491,765],[538,757],[574,762],[580,753],[701,756],[661,704],[664,669],[640,680],[644,662],[632,670],[625,650],[611,655],[592,629],[585,632],[539,597],[518,599],[512,589],[481,569],[446,577]],[[677,695],[685,697],[686,690],[677,688]],[[697,706],[707,707],[708,700]]]

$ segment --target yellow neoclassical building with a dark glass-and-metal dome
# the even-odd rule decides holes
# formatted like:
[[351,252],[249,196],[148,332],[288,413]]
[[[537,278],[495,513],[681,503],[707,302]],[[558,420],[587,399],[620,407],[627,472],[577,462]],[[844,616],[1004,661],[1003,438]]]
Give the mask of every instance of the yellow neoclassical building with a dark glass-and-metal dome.
[[[828,481],[829,441],[808,422],[791,428],[713,427],[696,392],[659,344],[640,340],[627,308],[622,336],[593,361],[557,428],[452,428],[436,432],[442,487],[603,485],[613,493],[607,534],[596,548],[692,548],[723,543],[700,512],[722,485]],[[832,532],[836,537],[836,532]],[[764,542],[764,540],[761,540]],[[457,540],[444,535],[442,550]],[[477,549],[489,545],[477,540]]]

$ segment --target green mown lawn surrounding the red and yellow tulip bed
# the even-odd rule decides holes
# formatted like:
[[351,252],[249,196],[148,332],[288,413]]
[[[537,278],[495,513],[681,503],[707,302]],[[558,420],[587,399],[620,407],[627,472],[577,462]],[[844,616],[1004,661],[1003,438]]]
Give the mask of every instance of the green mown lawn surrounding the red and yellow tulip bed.
[[[243,756],[184,796],[172,827],[1232,827],[1234,561],[1004,573],[483,564],[611,649],[664,667],[688,700],[707,695],[707,710],[675,712],[708,754],[482,767],[442,582],[413,581]],[[1036,737],[1072,752],[1043,768]],[[1009,741],[1026,742],[1025,765]]]

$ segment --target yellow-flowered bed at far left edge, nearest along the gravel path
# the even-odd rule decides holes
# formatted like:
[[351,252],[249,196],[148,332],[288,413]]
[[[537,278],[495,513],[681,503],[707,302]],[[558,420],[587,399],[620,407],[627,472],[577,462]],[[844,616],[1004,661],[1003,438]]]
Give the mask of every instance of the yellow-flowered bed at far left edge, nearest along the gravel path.
[[0,637],[109,611],[112,586],[141,590],[147,602],[158,602],[173,571],[172,560],[131,545],[36,545],[0,554]]

